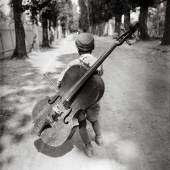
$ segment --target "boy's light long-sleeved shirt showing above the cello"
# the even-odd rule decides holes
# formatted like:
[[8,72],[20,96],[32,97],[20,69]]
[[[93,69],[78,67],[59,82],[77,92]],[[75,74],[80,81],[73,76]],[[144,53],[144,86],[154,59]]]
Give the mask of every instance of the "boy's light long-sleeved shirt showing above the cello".
[[[66,69],[64,69],[64,71],[62,71],[58,77],[58,84],[61,83],[63,77],[64,77],[64,74],[67,72],[67,70],[72,67],[73,65],[82,65],[82,66],[85,66],[87,68],[90,68],[95,62],[97,61],[97,58],[94,57],[93,55],[91,54],[83,54],[80,56],[80,58],[78,59],[75,59],[73,61],[71,61]],[[100,66],[98,69],[98,71],[101,71],[103,72],[103,68],[102,66]]]

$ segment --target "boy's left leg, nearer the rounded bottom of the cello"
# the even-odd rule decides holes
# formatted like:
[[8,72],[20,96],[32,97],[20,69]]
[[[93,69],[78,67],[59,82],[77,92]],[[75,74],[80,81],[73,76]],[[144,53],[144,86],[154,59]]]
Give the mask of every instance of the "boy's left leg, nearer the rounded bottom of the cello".
[[85,152],[87,156],[91,157],[94,154],[93,146],[86,128],[86,119],[79,121],[79,133],[82,138],[83,143],[85,144]]

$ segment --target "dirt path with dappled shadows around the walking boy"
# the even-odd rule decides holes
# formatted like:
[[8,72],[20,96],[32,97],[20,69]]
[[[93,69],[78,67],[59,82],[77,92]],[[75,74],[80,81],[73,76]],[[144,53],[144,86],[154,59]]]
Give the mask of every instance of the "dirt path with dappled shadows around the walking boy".
[[[96,37],[96,40],[94,53],[98,56],[111,39]],[[105,144],[97,147],[93,142],[94,158],[84,154],[77,132],[59,148],[48,147],[30,135],[33,105],[42,96],[54,92],[42,79],[42,73],[50,72],[55,79],[54,71],[59,73],[76,58],[75,53],[69,37],[55,49],[31,54],[28,62],[19,63],[22,77],[11,81],[15,87],[5,80],[3,88],[7,90],[1,98],[3,102],[8,99],[5,103],[8,112],[4,113],[13,116],[1,128],[5,129],[0,145],[2,170],[169,170],[170,51],[160,48],[158,42],[124,45],[104,63],[106,91],[100,102],[100,120]],[[47,62],[50,67],[46,66]],[[15,64],[7,63],[5,67],[11,65]],[[20,75],[12,70],[10,74]],[[14,108],[9,104],[11,101],[15,101]],[[12,109],[17,114],[9,113]],[[90,126],[89,130],[93,138]]]

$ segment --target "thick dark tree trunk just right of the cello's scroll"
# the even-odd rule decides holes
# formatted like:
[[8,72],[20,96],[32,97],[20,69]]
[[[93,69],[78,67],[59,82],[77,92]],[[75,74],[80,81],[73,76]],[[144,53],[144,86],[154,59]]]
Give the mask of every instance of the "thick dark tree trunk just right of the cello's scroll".
[[139,32],[140,38],[142,40],[149,39],[148,28],[147,28],[147,17],[148,17],[148,7],[141,6],[140,7],[140,15],[139,15]]

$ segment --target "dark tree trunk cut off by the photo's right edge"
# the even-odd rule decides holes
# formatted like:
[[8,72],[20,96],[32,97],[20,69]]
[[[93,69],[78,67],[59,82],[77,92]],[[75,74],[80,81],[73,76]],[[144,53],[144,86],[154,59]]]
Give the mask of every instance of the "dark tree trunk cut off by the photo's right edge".
[[167,1],[162,45],[170,44],[170,1]]

